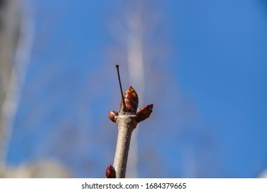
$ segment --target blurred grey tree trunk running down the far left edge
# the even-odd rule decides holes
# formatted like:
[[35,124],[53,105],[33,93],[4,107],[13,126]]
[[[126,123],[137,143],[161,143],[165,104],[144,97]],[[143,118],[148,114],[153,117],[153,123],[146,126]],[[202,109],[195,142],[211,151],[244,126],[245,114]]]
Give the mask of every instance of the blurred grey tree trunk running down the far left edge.
[[[12,79],[12,69],[18,45],[21,25],[21,3],[18,0],[0,1],[0,171],[4,169],[5,142],[7,128],[5,127],[4,108]],[[12,107],[12,106],[10,106]]]

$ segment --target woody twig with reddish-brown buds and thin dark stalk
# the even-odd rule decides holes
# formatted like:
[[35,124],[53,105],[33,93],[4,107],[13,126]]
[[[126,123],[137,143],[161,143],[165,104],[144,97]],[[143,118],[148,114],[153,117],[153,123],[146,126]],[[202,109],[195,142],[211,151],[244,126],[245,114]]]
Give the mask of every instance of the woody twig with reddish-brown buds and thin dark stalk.
[[111,165],[107,167],[105,173],[106,178],[125,178],[131,133],[138,123],[149,118],[153,109],[153,104],[149,104],[137,111],[138,95],[131,86],[129,86],[127,91],[123,94],[118,65],[116,65],[116,69],[118,72],[118,82],[120,84],[122,100],[120,101],[120,111],[116,112],[111,110],[109,115],[110,120],[115,122],[118,126],[118,139],[114,157],[114,167]]

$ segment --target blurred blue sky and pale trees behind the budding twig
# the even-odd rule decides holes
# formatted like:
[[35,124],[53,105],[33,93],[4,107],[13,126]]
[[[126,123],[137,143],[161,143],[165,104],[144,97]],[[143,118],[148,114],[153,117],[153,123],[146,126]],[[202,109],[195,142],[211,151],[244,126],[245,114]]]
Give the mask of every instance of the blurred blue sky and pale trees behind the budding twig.
[[1,0],[0,176],[104,178],[120,64],[128,178],[266,177],[266,2]]

